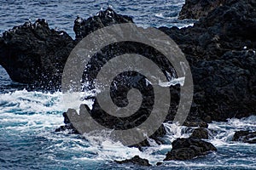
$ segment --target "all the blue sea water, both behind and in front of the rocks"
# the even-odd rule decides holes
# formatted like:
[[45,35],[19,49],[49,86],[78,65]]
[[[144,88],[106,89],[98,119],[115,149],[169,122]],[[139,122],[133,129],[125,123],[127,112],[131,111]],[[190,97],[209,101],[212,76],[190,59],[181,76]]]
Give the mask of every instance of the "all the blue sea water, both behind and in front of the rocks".
[[[82,0],[0,0],[0,32],[27,20],[48,20],[49,26],[67,31],[72,37],[73,21],[79,15],[88,18],[101,8],[113,6],[119,14],[133,16],[139,26],[188,26],[192,20],[177,20],[183,0],[148,1],[82,1]],[[147,158],[151,164],[162,161],[172,141],[188,137],[191,130],[166,123],[170,144],[152,142],[143,152],[128,148],[101,136],[54,133],[63,125],[62,112],[67,111],[61,92],[45,94],[28,92],[25,85],[12,82],[0,66],[0,169],[148,169],[117,165],[113,160],[132,156]],[[73,104],[76,105],[76,104]],[[231,142],[234,132],[256,131],[256,116],[229,122],[212,122],[209,141],[218,152],[190,161],[166,161],[150,169],[256,169],[256,144]]]

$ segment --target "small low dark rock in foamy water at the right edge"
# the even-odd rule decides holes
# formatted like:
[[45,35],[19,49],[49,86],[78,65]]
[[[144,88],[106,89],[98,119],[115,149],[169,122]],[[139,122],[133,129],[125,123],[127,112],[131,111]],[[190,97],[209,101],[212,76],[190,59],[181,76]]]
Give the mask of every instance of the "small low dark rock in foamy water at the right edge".
[[256,132],[238,131],[234,134],[233,141],[256,144]]

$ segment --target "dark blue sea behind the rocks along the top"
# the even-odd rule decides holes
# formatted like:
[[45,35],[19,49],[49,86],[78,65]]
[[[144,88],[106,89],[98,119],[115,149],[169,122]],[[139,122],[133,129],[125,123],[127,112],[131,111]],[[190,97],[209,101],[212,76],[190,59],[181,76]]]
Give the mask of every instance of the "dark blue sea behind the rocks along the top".
[[186,26],[191,24],[191,20],[177,20],[183,3],[183,0],[1,0],[0,32],[28,20],[44,18],[50,27],[65,30],[74,37],[73,21],[78,15],[88,18],[108,6],[112,6],[119,14],[132,16],[138,26]]

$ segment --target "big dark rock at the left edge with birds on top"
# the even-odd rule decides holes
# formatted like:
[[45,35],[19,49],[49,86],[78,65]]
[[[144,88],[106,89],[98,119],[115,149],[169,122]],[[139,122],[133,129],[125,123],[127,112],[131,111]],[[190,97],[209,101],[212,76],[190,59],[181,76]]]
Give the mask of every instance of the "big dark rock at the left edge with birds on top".
[[65,31],[49,29],[46,20],[26,22],[3,32],[0,65],[15,82],[55,89],[75,44]]

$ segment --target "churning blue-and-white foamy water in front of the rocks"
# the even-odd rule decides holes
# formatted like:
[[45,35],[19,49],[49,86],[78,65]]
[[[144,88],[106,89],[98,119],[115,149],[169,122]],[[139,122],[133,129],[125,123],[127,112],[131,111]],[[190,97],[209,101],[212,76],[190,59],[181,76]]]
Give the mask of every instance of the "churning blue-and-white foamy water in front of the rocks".
[[[68,132],[54,133],[56,127],[63,125],[62,112],[67,105],[63,105],[61,92],[45,94],[42,92],[27,92],[0,94],[0,153],[3,165],[15,167],[8,157],[13,160],[26,159],[32,156],[37,161],[24,163],[23,166],[41,166],[55,169],[56,167],[90,167],[103,166],[112,168],[113,160],[130,159],[140,156],[148,159],[153,165],[165,158],[166,152],[172,149],[172,141],[177,138],[188,138],[195,127],[183,127],[166,122],[166,144],[155,144],[150,140],[150,147],[143,151],[126,147],[119,142],[108,139],[108,133],[101,135],[68,134]],[[230,119],[228,122],[212,122],[209,124],[211,133],[209,142],[214,144],[218,152],[189,161],[166,161],[163,168],[222,168],[256,167],[256,144],[232,142],[232,135],[236,130],[256,131],[256,116],[243,119]],[[3,150],[4,147],[7,148]],[[20,153],[20,154],[17,154]],[[0,160],[1,161],[1,160]],[[34,162],[34,163],[33,163]],[[16,164],[17,167],[20,163]],[[19,166],[18,166],[19,165]],[[117,166],[117,165],[114,165]],[[119,165],[119,168],[123,165]],[[125,165],[126,167],[129,165]],[[132,166],[131,166],[132,167]],[[133,168],[133,167],[132,167]],[[156,167],[155,167],[156,168]]]

